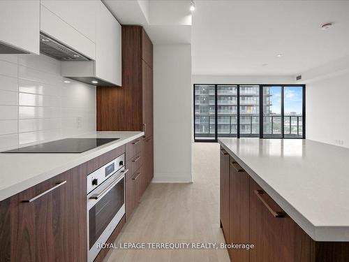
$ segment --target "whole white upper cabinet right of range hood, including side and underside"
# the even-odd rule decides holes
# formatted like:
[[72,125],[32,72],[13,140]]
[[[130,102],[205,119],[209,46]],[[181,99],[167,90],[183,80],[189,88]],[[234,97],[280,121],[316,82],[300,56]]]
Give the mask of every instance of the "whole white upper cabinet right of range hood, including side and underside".
[[101,1],[96,7],[96,61],[63,61],[61,73],[98,86],[121,86],[121,25]]

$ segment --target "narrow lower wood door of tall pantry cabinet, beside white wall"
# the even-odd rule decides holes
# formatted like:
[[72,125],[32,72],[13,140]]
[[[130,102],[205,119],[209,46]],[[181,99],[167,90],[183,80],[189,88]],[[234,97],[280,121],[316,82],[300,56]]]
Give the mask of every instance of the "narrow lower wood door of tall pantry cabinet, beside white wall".
[[142,61],[143,131],[146,138],[153,136],[153,70]]

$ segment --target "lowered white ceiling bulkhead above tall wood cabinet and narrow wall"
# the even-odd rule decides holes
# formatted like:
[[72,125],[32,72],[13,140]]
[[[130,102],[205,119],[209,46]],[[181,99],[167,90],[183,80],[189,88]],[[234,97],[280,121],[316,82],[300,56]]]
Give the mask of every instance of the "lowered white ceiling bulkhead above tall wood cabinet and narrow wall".
[[120,24],[138,24],[154,44],[191,43],[190,0],[103,0]]

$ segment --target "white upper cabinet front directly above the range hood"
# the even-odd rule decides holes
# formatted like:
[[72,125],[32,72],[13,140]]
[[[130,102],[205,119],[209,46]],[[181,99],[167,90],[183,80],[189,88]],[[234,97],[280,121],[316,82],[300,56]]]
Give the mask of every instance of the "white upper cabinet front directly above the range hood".
[[98,0],[41,0],[40,31],[96,59]]

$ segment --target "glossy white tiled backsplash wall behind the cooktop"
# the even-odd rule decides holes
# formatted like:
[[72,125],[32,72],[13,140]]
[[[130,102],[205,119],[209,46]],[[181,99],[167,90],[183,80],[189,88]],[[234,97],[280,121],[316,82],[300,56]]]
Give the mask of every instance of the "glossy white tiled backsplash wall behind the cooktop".
[[96,131],[96,87],[43,54],[0,55],[0,151]]

